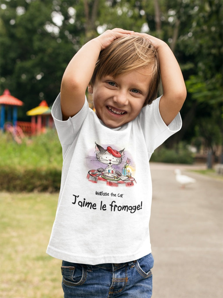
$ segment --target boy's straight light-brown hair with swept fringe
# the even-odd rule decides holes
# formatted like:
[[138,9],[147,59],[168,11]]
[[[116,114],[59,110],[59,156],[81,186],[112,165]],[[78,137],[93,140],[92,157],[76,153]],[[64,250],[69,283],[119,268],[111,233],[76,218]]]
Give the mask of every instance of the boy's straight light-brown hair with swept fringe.
[[160,83],[160,67],[158,54],[151,41],[138,35],[129,35],[114,40],[100,52],[90,85],[103,76],[117,77],[123,73],[141,67],[148,67],[148,75],[152,75],[149,93],[144,106],[157,98]]

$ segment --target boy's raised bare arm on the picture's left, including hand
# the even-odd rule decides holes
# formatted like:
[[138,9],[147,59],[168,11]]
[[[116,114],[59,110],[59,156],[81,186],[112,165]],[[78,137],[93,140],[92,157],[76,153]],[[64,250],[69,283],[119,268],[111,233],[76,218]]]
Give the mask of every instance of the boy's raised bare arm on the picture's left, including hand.
[[85,44],[71,59],[61,83],[60,103],[63,120],[76,115],[84,105],[85,92],[100,51],[117,38],[131,34],[123,29],[107,30]]

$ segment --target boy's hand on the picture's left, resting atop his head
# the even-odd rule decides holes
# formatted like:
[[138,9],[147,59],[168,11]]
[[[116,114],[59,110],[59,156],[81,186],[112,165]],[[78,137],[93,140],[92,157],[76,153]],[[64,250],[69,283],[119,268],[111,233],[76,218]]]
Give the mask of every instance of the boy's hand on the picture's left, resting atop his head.
[[134,31],[115,28],[112,30],[105,31],[104,33],[96,37],[95,40],[98,40],[100,42],[101,50],[103,50],[107,46],[109,46],[109,44],[111,44],[112,41],[114,41],[115,39],[130,35],[133,32]]

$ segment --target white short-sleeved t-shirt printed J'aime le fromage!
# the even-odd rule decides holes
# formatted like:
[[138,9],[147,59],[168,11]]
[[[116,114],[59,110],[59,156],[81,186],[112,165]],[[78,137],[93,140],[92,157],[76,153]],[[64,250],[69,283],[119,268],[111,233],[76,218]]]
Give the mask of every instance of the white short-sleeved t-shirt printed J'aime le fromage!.
[[61,189],[47,253],[73,263],[123,263],[151,252],[149,220],[154,149],[182,125],[167,127],[160,97],[133,121],[109,128],[89,108],[62,121],[52,107],[63,151]]

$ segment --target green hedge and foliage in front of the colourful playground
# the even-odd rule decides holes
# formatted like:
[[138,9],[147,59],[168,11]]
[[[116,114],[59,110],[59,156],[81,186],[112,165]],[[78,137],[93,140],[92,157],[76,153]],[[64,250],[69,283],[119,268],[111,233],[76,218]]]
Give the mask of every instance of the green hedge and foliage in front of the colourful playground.
[[24,139],[21,145],[1,134],[0,149],[1,191],[59,191],[62,149],[55,130]]

